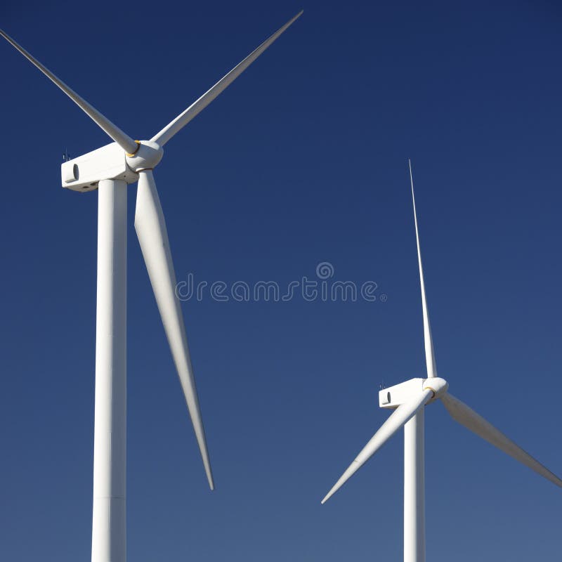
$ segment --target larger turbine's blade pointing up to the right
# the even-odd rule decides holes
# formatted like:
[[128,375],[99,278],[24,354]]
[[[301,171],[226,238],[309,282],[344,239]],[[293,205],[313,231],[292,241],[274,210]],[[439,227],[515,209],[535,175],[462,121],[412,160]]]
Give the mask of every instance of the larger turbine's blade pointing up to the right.
[[294,22],[294,20],[299,18],[302,13],[303,12],[300,11],[294,16],[294,18],[281,27],[280,30],[277,30],[271,37],[269,37],[269,39],[263,41],[263,43],[256,48],[255,51],[252,51],[246,58],[244,58],[244,60],[242,60],[242,63],[235,66],[233,70],[230,70],[226,76],[221,78],[211,89],[207,90],[207,92],[205,92],[198,100],[192,103],[183,113],[178,115],[174,121],[167,124],[162,131],[157,133],[150,140],[158,143],[160,146],[164,146],[178,131],[183,129],[183,127],[187,125],[193,117],[202,112],[202,110],[204,110],[204,108],[207,107],[207,105],[209,105],[209,103],[211,103],[211,101],[213,101],[219,93],[226,89],[227,86],[230,86],[230,84],[232,84],[233,81],[235,81],[235,79],[237,79],[237,77],[239,77],[240,74],[242,74],[242,72],[244,72],[244,70],[246,70],[247,67],[249,67],[249,65],[251,65],[251,63],[253,63],[254,60],[256,60],[256,58],[258,58],[259,55],[261,55],[261,53],[263,53],[263,51],[265,51],[266,48],[268,48],[268,46],[270,46],[270,44],[272,44],[273,41],[275,41],[275,39],[277,39],[277,37],[279,37],[280,34],[282,34],[282,32],[284,32],[287,27]]

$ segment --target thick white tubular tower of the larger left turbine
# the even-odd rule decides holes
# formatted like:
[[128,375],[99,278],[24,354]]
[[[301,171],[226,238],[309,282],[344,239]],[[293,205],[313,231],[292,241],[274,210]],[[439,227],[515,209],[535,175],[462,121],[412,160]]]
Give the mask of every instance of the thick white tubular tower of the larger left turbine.
[[125,562],[127,184],[98,193],[92,562]]

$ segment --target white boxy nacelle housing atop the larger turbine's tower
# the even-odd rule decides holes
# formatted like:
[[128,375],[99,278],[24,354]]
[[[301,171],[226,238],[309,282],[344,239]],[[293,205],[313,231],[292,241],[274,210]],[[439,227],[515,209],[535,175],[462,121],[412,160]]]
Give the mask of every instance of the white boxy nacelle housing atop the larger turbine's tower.
[[126,183],[138,180],[138,174],[129,169],[125,152],[117,143],[63,162],[60,175],[63,188],[80,192],[98,189],[100,180],[119,179]]

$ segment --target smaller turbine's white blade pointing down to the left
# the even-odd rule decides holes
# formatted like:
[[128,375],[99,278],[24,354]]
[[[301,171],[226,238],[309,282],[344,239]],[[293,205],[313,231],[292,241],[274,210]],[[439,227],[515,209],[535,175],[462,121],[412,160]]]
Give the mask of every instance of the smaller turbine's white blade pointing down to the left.
[[400,404],[396,410],[392,413],[384,424],[381,425],[379,431],[372,436],[371,440],[365,447],[362,448],[361,452],[355,460],[348,466],[348,469],[341,475],[339,481],[334,484],[332,490],[330,490],[326,497],[322,499],[322,504],[327,502],[327,500],[334,495],[341,486],[343,486],[346,481],[357,472],[365,462],[367,462],[375,452],[377,452],[388,439],[390,439],[398,429],[400,429],[412,416],[414,416],[420,408],[424,407],[426,402],[433,396],[433,391],[427,389],[421,392],[418,396],[415,396],[409,402]]

